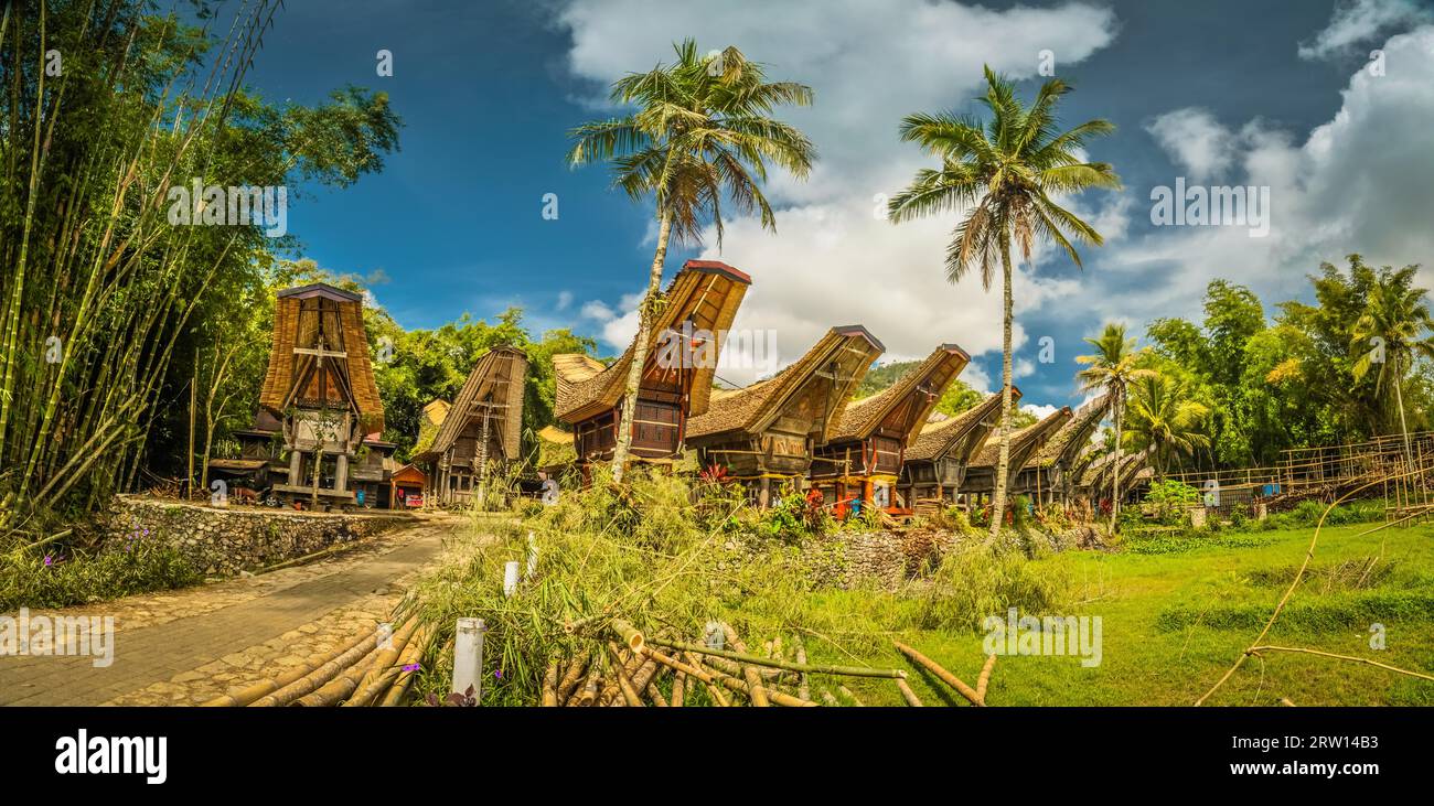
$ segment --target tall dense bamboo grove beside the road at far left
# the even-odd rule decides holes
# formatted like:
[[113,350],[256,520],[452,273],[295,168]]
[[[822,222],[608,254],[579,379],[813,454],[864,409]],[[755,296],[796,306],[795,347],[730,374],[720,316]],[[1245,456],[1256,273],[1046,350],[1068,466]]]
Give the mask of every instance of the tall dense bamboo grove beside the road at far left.
[[186,22],[125,0],[6,4],[0,538],[44,536],[136,486],[196,367],[222,376],[247,338],[232,311],[294,245],[260,225],[175,225],[171,188],[343,186],[397,146],[381,93],[278,108],[245,90],[280,7],[248,0],[211,30],[208,3]]

